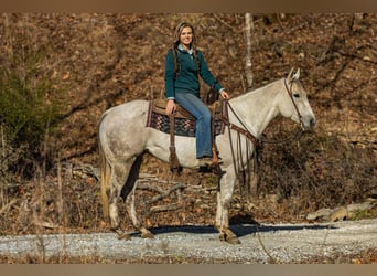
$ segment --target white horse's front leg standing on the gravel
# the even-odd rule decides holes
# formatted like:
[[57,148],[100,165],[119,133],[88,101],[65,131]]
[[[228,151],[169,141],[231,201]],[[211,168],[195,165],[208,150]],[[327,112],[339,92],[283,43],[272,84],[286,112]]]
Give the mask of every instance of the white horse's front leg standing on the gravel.
[[234,192],[236,177],[234,172],[227,173],[220,179],[217,191],[217,210],[215,227],[219,232],[219,240],[229,244],[239,244],[237,235],[229,229],[229,208]]

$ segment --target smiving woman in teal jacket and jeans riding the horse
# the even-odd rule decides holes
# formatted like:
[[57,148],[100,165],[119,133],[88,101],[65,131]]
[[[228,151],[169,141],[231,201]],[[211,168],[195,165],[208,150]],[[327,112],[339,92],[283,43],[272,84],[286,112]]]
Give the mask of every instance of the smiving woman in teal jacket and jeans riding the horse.
[[[208,86],[216,81],[202,52],[196,50],[194,28],[183,22],[176,26],[173,49],[165,57],[166,114],[175,112],[177,103],[196,118],[196,158],[202,167],[212,162],[212,115],[200,98],[198,76]],[[224,99],[229,98],[219,83],[215,87]]]

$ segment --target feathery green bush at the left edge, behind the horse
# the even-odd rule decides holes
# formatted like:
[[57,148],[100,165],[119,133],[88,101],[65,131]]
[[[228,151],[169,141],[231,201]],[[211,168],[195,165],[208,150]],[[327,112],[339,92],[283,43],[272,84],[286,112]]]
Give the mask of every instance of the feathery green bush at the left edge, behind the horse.
[[[56,85],[44,66],[47,50],[20,43],[0,65],[0,126],[7,148],[23,148],[9,167],[37,161],[41,146],[60,119]],[[6,145],[1,145],[6,148]],[[29,161],[26,161],[29,160]],[[15,166],[14,166],[15,164]]]

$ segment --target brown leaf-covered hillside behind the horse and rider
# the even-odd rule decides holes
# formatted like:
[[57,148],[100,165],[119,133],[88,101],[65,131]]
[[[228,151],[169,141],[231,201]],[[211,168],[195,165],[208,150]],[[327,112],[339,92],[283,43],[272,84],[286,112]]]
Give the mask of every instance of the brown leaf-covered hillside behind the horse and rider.
[[[54,83],[50,96],[58,99],[63,112],[56,131],[46,139],[54,161],[47,176],[43,180],[14,178],[2,188],[2,206],[12,212],[0,213],[4,217],[1,232],[35,231],[31,213],[21,215],[18,210],[23,210],[22,203],[30,208],[40,202],[35,197],[43,192],[51,193],[41,197],[52,209],[43,215],[56,223],[58,210],[51,204],[56,201],[57,163],[65,173],[60,191],[65,226],[72,231],[108,230],[101,221],[96,179],[99,117],[123,102],[163,96],[164,56],[174,26],[182,20],[196,26],[200,49],[230,96],[241,94],[246,86],[244,14],[1,15],[1,60],[10,60],[18,47],[46,51],[35,78],[49,76]],[[292,66],[300,67],[317,125],[315,132],[305,135],[300,142],[266,145],[259,195],[246,208],[236,193],[234,221],[302,221],[316,209],[374,197],[377,15],[254,14],[254,88],[287,75]],[[202,89],[207,87],[203,85]],[[286,139],[293,127],[277,119],[266,137]],[[69,168],[76,174],[69,174]],[[142,172],[183,181],[193,187],[188,191],[193,198],[202,194],[200,188],[206,191],[197,200],[183,197],[186,208],[179,213],[154,214],[148,219],[149,226],[212,223],[215,195],[206,176],[197,178],[190,171],[171,176],[166,164],[148,156]],[[42,189],[40,183],[45,187]],[[7,205],[12,199],[15,201]],[[7,225],[14,217],[17,225]]]

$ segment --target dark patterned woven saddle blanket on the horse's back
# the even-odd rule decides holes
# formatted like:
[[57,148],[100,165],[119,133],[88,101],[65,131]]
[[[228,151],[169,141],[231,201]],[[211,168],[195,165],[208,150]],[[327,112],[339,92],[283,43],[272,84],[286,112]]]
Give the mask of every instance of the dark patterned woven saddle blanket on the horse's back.
[[[225,112],[225,105],[220,108],[222,110],[215,114],[215,135],[224,134],[225,124],[220,119]],[[224,116],[223,116],[224,117]],[[170,134],[170,117],[166,114],[157,112],[153,106],[153,100],[149,104],[149,112],[147,117],[147,127],[154,128],[165,134]],[[176,116],[174,118],[175,135],[195,137],[196,132],[196,120],[192,116]]]

